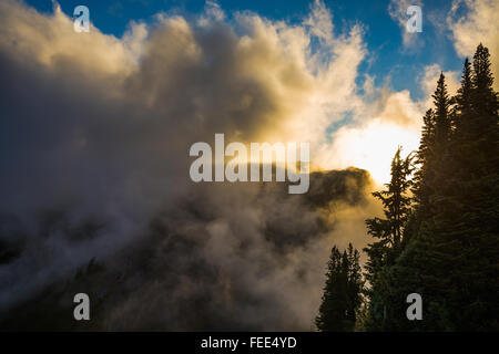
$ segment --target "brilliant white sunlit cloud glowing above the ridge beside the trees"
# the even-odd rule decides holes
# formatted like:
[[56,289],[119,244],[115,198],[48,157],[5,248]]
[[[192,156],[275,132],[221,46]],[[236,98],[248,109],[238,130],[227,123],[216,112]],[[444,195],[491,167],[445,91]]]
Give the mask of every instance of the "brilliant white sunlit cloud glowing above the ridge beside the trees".
[[[409,91],[393,92],[387,87],[370,87],[370,100],[365,100],[353,122],[330,134],[330,144],[322,145],[315,158],[324,168],[357,166],[370,171],[379,184],[390,179],[390,162],[398,146],[403,155],[419,148],[422,115],[432,107],[431,95],[442,72],[438,64],[427,65],[418,76],[422,91],[414,100]],[[459,73],[444,72],[449,95],[457,93]]]

